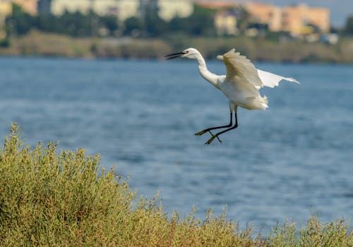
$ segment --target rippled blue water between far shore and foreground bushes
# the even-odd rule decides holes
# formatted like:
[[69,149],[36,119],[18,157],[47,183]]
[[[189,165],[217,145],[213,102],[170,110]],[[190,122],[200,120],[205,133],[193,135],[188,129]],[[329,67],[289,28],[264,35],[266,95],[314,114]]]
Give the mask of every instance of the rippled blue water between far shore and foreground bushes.
[[[84,147],[117,164],[167,212],[219,215],[268,231],[277,222],[353,215],[353,66],[257,64],[297,78],[262,90],[270,108],[239,109],[239,128],[205,146],[193,133],[229,122],[222,92],[194,61],[0,58],[0,136],[11,121],[35,145]],[[209,68],[225,73],[220,61]]]

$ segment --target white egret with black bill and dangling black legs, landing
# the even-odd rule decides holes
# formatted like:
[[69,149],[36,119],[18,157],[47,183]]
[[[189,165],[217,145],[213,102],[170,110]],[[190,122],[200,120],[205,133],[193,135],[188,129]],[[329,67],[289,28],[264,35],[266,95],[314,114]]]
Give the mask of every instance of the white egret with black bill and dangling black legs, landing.
[[[293,78],[285,78],[270,72],[256,69],[251,61],[246,58],[246,56],[241,56],[239,52],[235,52],[235,49],[231,49],[229,52],[217,56],[217,59],[220,59],[223,63],[225,63],[227,68],[227,75],[225,76],[218,76],[208,71],[205,59],[203,59],[201,53],[194,48],[185,49],[183,52],[169,54],[166,57],[167,59],[175,59],[177,57],[196,59],[198,61],[198,71],[201,76],[214,85],[215,88],[221,90],[225,97],[229,100],[230,122],[228,125],[206,128],[203,131],[195,133],[195,135],[203,135],[204,133],[209,132],[212,135],[205,145],[212,143],[215,138],[221,142],[218,135],[238,127],[238,106],[249,110],[264,110],[268,108],[267,97],[262,97],[259,92],[259,90],[264,86],[274,88],[280,83],[281,80],[299,83]],[[232,121],[233,112],[235,114],[234,125]],[[213,135],[211,131],[218,128],[227,129]]]

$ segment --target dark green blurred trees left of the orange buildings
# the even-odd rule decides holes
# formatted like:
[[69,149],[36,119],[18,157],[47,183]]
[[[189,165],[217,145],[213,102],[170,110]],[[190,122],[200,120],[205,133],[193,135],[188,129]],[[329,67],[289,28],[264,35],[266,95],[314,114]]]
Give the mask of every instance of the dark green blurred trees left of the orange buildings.
[[182,32],[185,35],[215,35],[213,16],[215,11],[195,6],[193,14],[187,18],[174,17],[170,21],[160,18],[150,11],[142,17],[127,18],[119,23],[116,16],[98,16],[93,11],[87,14],[64,12],[61,16],[39,13],[31,16],[13,6],[13,13],[6,18],[6,29],[11,35],[25,35],[31,29],[55,32],[73,37],[117,36],[157,37],[169,33]]

